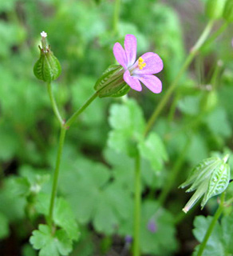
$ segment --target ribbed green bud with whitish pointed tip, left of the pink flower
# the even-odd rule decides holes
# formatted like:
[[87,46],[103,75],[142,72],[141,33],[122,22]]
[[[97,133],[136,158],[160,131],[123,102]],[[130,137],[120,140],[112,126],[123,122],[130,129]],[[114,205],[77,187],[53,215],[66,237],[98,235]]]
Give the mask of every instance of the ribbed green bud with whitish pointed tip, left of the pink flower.
[[61,74],[61,65],[57,58],[53,55],[50,47],[46,43],[47,34],[43,31],[41,33],[41,55],[34,65],[34,75],[45,82],[51,82],[59,77]]

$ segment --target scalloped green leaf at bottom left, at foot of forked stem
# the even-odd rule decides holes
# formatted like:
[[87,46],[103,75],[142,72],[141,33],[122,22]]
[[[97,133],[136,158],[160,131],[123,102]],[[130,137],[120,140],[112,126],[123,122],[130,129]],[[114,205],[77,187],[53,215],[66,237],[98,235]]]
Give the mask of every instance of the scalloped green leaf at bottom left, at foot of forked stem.
[[38,230],[33,231],[30,243],[34,249],[40,250],[39,256],[65,256],[72,250],[72,241],[65,230],[56,230],[55,234],[52,234],[49,226],[42,224]]

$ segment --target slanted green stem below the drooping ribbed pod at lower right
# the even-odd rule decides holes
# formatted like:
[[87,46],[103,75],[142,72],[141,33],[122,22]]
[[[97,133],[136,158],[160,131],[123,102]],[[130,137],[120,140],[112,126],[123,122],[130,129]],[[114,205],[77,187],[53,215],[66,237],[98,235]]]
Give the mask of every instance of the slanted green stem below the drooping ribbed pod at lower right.
[[207,233],[205,234],[205,236],[203,238],[203,242],[199,246],[199,250],[198,250],[198,253],[196,254],[196,256],[201,256],[203,254],[203,250],[205,249],[205,246],[207,245],[207,241],[210,238],[211,233],[212,233],[212,231],[215,228],[215,224],[216,224],[216,222],[218,221],[220,215],[223,212],[224,197],[225,197],[225,193],[223,192],[223,194],[221,194],[219,208],[215,212],[215,216],[212,219],[211,224],[210,224],[210,226],[207,229]]

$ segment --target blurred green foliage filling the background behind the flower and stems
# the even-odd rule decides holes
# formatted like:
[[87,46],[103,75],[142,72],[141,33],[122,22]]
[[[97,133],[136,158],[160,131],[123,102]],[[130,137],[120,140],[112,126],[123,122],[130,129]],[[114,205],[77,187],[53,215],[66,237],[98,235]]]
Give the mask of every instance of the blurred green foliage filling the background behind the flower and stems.
[[[47,248],[41,256],[67,255],[72,244],[70,255],[120,255],[130,250],[124,237],[132,236],[136,143],[143,158],[142,253],[181,255],[184,243],[193,239],[193,214],[199,212],[186,216],[189,229],[188,224],[176,222],[188,200],[177,187],[212,152],[231,153],[232,34],[223,33],[200,51],[144,140],[148,117],[176,77],[207,17],[203,1],[121,0],[117,23],[115,8],[110,0],[0,2],[1,255],[11,256],[14,251],[36,255],[29,238],[39,224],[30,242],[36,249]],[[69,129],[55,210],[59,229],[53,237],[42,216],[49,209],[49,176],[53,175],[59,125],[45,84],[33,74],[42,30],[48,33],[53,53],[61,62],[61,78],[53,82],[53,90],[65,118],[93,94],[97,78],[115,63],[113,44],[123,42],[125,34],[136,36],[138,56],[154,51],[164,61],[160,95],[144,88],[142,93],[131,91],[130,99],[98,98]],[[223,64],[213,79],[219,60]],[[230,164],[232,167],[232,161]],[[176,168],[179,173],[160,206],[157,199]],[[207,204],[205,214],[214,209],[215,203]],[[154,233],[148,230],[151,220],[156,223]],[[199,242],[209,222],[210,217],[195,218],[194,234]],[[216,226],[206,255],[217,249],[219,255],[223,250],[232,253],[232,239],[224,232],[231,222],[224,217]],[[179,230],[186,234],[185,242]],[[224,242],[222,234],[227,236]]]

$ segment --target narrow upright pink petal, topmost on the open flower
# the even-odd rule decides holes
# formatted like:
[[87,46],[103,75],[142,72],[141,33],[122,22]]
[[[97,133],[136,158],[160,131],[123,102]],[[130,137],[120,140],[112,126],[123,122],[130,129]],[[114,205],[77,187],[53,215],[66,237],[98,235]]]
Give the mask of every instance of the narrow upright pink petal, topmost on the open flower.
[[132,66],[136,61],[136,37],[133,34],[126,34],[124,38],[124,50],[128,66]]

